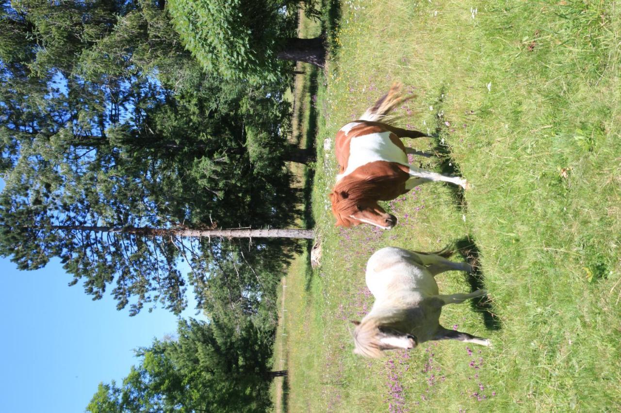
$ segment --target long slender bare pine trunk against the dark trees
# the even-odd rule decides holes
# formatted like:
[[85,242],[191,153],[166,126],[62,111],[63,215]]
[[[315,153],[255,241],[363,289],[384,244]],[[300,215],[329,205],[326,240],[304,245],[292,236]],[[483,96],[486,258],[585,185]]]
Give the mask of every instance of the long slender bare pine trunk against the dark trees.
[[312,229],[189,229],[189,228],[151,228],[143,227],[113,227],[113,226],[84,226],[84,225],[53,225],[52,229],[61,231],[94,231],[99,233],[136,234],[143,236],[176,236],[185,238],[220,237],[220,238],[299,238],[314,239]]

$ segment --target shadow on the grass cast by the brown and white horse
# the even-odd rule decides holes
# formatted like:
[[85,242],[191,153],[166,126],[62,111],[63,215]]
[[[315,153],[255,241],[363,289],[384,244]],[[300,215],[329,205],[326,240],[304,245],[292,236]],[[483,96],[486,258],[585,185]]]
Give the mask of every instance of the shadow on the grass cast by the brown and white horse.
[[[448,135],[448,127],[446,126],[446,118],[444,117],[444,111],[442,106],[444,104],[444,96],[446,94],[446,88],[443,86],[440,89],[438,98],[433,102],[433,107],[438,110],[436,115],[436,126],[431,136],[435,139],[435,145],[433,151],[440,159],[440,173],[443,175],[462,176],[460,167],[451,158],[451,151],[448,145],[444,142],[443,136]],[[464,190],[459,185],[446,184],[451,191],[451,195],[455,198],[458,207],[462,211],[466,211],[468,205],[464,197]]]

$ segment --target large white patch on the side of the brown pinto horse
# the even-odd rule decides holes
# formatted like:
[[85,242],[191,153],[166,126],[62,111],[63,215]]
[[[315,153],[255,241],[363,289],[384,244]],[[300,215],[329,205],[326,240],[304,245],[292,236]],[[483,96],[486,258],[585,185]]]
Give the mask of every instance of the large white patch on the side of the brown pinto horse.
[[387,131],[352,138],[347,169],[342,174],[337,175],[337,182],[370,162],[386,161],[409,165],[406,153],[392,143],[390,134]]

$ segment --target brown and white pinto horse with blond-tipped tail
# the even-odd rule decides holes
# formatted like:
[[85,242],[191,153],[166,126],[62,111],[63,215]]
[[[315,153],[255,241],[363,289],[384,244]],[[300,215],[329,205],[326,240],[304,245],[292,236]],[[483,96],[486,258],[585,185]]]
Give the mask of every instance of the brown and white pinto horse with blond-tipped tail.
[[[466,188],[462,177],[423,171],[409,164],[406,148],[399,138],[420,138],[422,132],[388,125],[386,115],[410,97],[403,97],[401,85],[393,84],[388,94],[366,110],[360,120],[342,127],[335,140],[335,154],[340,171],[330,193],[332,213],[337,226],[361,223],[391,229],[397,223],[378,201],[392,200],[417,185],[442,180]],[[378,122],[383,119],[384,122]]]

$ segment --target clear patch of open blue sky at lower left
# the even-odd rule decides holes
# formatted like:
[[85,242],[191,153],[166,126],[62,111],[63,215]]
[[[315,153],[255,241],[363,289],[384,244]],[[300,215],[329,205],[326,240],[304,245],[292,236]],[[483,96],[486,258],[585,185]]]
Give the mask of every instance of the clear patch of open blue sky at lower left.
[[168,311],[130,317],[108,295],[93,301],[81,283],[67,286],[58,260],[18,271],[0,259],[0,268],[0,412],[83,412],[100,381],[119,383],[137,363],[133,349],[176,332]]

